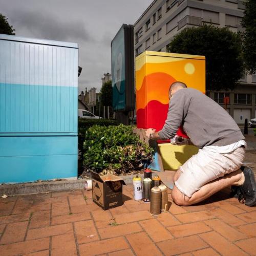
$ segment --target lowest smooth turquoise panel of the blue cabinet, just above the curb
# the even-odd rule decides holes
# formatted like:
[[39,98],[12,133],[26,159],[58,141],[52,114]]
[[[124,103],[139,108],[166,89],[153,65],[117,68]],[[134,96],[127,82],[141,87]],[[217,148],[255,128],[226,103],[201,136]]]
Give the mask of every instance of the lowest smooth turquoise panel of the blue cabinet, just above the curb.
[[0,157],[0,183],[77,177],[77,155]]

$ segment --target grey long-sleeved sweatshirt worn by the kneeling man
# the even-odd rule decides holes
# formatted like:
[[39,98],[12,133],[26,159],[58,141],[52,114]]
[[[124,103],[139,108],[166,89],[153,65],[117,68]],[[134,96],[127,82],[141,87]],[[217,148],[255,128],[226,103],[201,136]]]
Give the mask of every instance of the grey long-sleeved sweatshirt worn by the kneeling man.
[[225,146],[244,139],[237,123],[219,104],[191,88],[177,91],[170,99],[160,139],[172,139],[180,125],[199,148]]

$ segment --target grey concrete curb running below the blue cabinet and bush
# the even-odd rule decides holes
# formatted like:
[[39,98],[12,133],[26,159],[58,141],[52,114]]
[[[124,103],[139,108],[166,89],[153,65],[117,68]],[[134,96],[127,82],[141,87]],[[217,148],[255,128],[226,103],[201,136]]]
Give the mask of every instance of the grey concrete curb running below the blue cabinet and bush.
[[[132,184],[134,176],[135,175],[125,175],[120,177],[124,179],[125,184]],[[143,177],[143,174],[139,174],[138,176]],[[15,196],[82,189],[87,180],[89,179],[3,184],[0,185],[0,196],[4,194],[7,196]]]

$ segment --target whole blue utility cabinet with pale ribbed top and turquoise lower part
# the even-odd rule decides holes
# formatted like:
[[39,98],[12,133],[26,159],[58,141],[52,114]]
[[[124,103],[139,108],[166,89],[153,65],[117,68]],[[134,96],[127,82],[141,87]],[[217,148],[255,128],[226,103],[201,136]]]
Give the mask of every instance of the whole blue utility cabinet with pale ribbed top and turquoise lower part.
[[0,183],[77,177],[78,45],[0,34]]

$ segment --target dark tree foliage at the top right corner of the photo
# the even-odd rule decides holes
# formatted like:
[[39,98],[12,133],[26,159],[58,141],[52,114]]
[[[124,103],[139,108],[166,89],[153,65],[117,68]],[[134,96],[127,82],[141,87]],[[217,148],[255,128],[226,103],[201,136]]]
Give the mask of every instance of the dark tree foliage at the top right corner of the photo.
[[256,1],[248,0],[245,2],[244,17],[242,26],[245,28],[243,33],[243,54],[246,69],[250,74],[256,73]]

